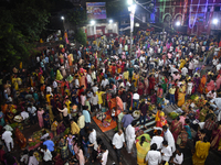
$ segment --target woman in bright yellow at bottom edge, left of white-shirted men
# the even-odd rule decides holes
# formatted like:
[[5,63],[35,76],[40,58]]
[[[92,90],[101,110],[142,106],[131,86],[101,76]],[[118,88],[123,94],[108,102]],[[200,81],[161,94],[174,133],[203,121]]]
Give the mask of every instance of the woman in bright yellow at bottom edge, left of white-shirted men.
[[146,165],[145,157],[150,150],[150,144],[147,139],[143,135],[141,140],[136,143],[137,148],[137,164]]

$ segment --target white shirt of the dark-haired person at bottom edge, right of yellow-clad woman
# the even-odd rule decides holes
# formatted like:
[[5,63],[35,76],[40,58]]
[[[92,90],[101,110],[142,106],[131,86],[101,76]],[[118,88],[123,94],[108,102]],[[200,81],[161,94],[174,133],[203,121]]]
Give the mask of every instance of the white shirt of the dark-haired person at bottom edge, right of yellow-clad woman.
[[148,161],[148,165],[158,165],[161,162],[161,154],[158,151],[149,151],[145,160]]

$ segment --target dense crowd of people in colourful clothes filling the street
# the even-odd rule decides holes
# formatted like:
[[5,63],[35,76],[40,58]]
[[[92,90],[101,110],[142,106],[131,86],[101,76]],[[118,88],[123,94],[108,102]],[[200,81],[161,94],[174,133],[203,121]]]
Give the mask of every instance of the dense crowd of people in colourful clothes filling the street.
[[[193,165],[203,165],[209,150],[220,151],[221,43],[145,31],[133,38],[133,47],[130,42],[102,38],[78,50],[64,43],[32,57],[28,68],[21,63],[1,72],[0,162],[38,165],[33,153],[39,151],[43,164],[106,165],[109,152],[91,127],[92,117],[104,110],[118,123],[112,144],[119,164],[124,146],[137,153],[138,165],[181,165],[181,148],[192,152]],[[196,106],[192,96],[203,102]],[[171,123],[168,107],[179,111]],[[28,151],[21,130],[10,127],[18,116],[27,128],[43,129],[39,147]],[[147,134],[152,118],[156,127]],[[14,142],[21,158],[13,155]]]

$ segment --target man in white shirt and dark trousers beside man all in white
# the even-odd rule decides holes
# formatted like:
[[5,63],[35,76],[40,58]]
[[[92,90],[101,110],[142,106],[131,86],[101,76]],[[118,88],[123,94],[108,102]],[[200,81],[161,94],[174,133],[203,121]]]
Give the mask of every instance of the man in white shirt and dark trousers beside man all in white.
[[119,129],[117,133],[114,134],[112,144],[114,146],[114,150],[117,154],[117,161],[119,162],[119,165],[122,165],[122,148],[123,145],[126,147],[125,138],[123,131]]

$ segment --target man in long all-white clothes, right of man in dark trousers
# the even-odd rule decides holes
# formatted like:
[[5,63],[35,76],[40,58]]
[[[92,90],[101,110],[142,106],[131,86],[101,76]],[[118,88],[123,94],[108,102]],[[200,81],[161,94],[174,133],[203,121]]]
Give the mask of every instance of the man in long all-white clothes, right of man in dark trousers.
[[133,146],[135,144],[135,138],[136,138],[135,127],[136,127],[136,121],[133,121],[131,124],[129,124],[125,131],[128,154],[133,154]]

